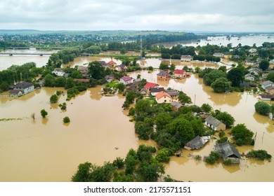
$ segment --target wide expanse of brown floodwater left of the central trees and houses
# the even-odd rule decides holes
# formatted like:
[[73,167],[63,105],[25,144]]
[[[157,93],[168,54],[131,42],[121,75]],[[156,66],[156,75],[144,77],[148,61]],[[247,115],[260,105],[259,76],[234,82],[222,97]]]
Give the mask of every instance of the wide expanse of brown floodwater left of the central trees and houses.
[[[63,89],[43,87],[16,99],[0,97],[0,118],[22,118],[0,121],[0,181],[70,181],[81,162],[102,165],[138,148],[133,123],[122,112],[124,97],[102,97],[100,87],[91,88],[67,102],[62,112],[49,103],[56,90]],[[41,109],[48,111],[44,119]],[[69,125],[63,124],[65,116]]]

